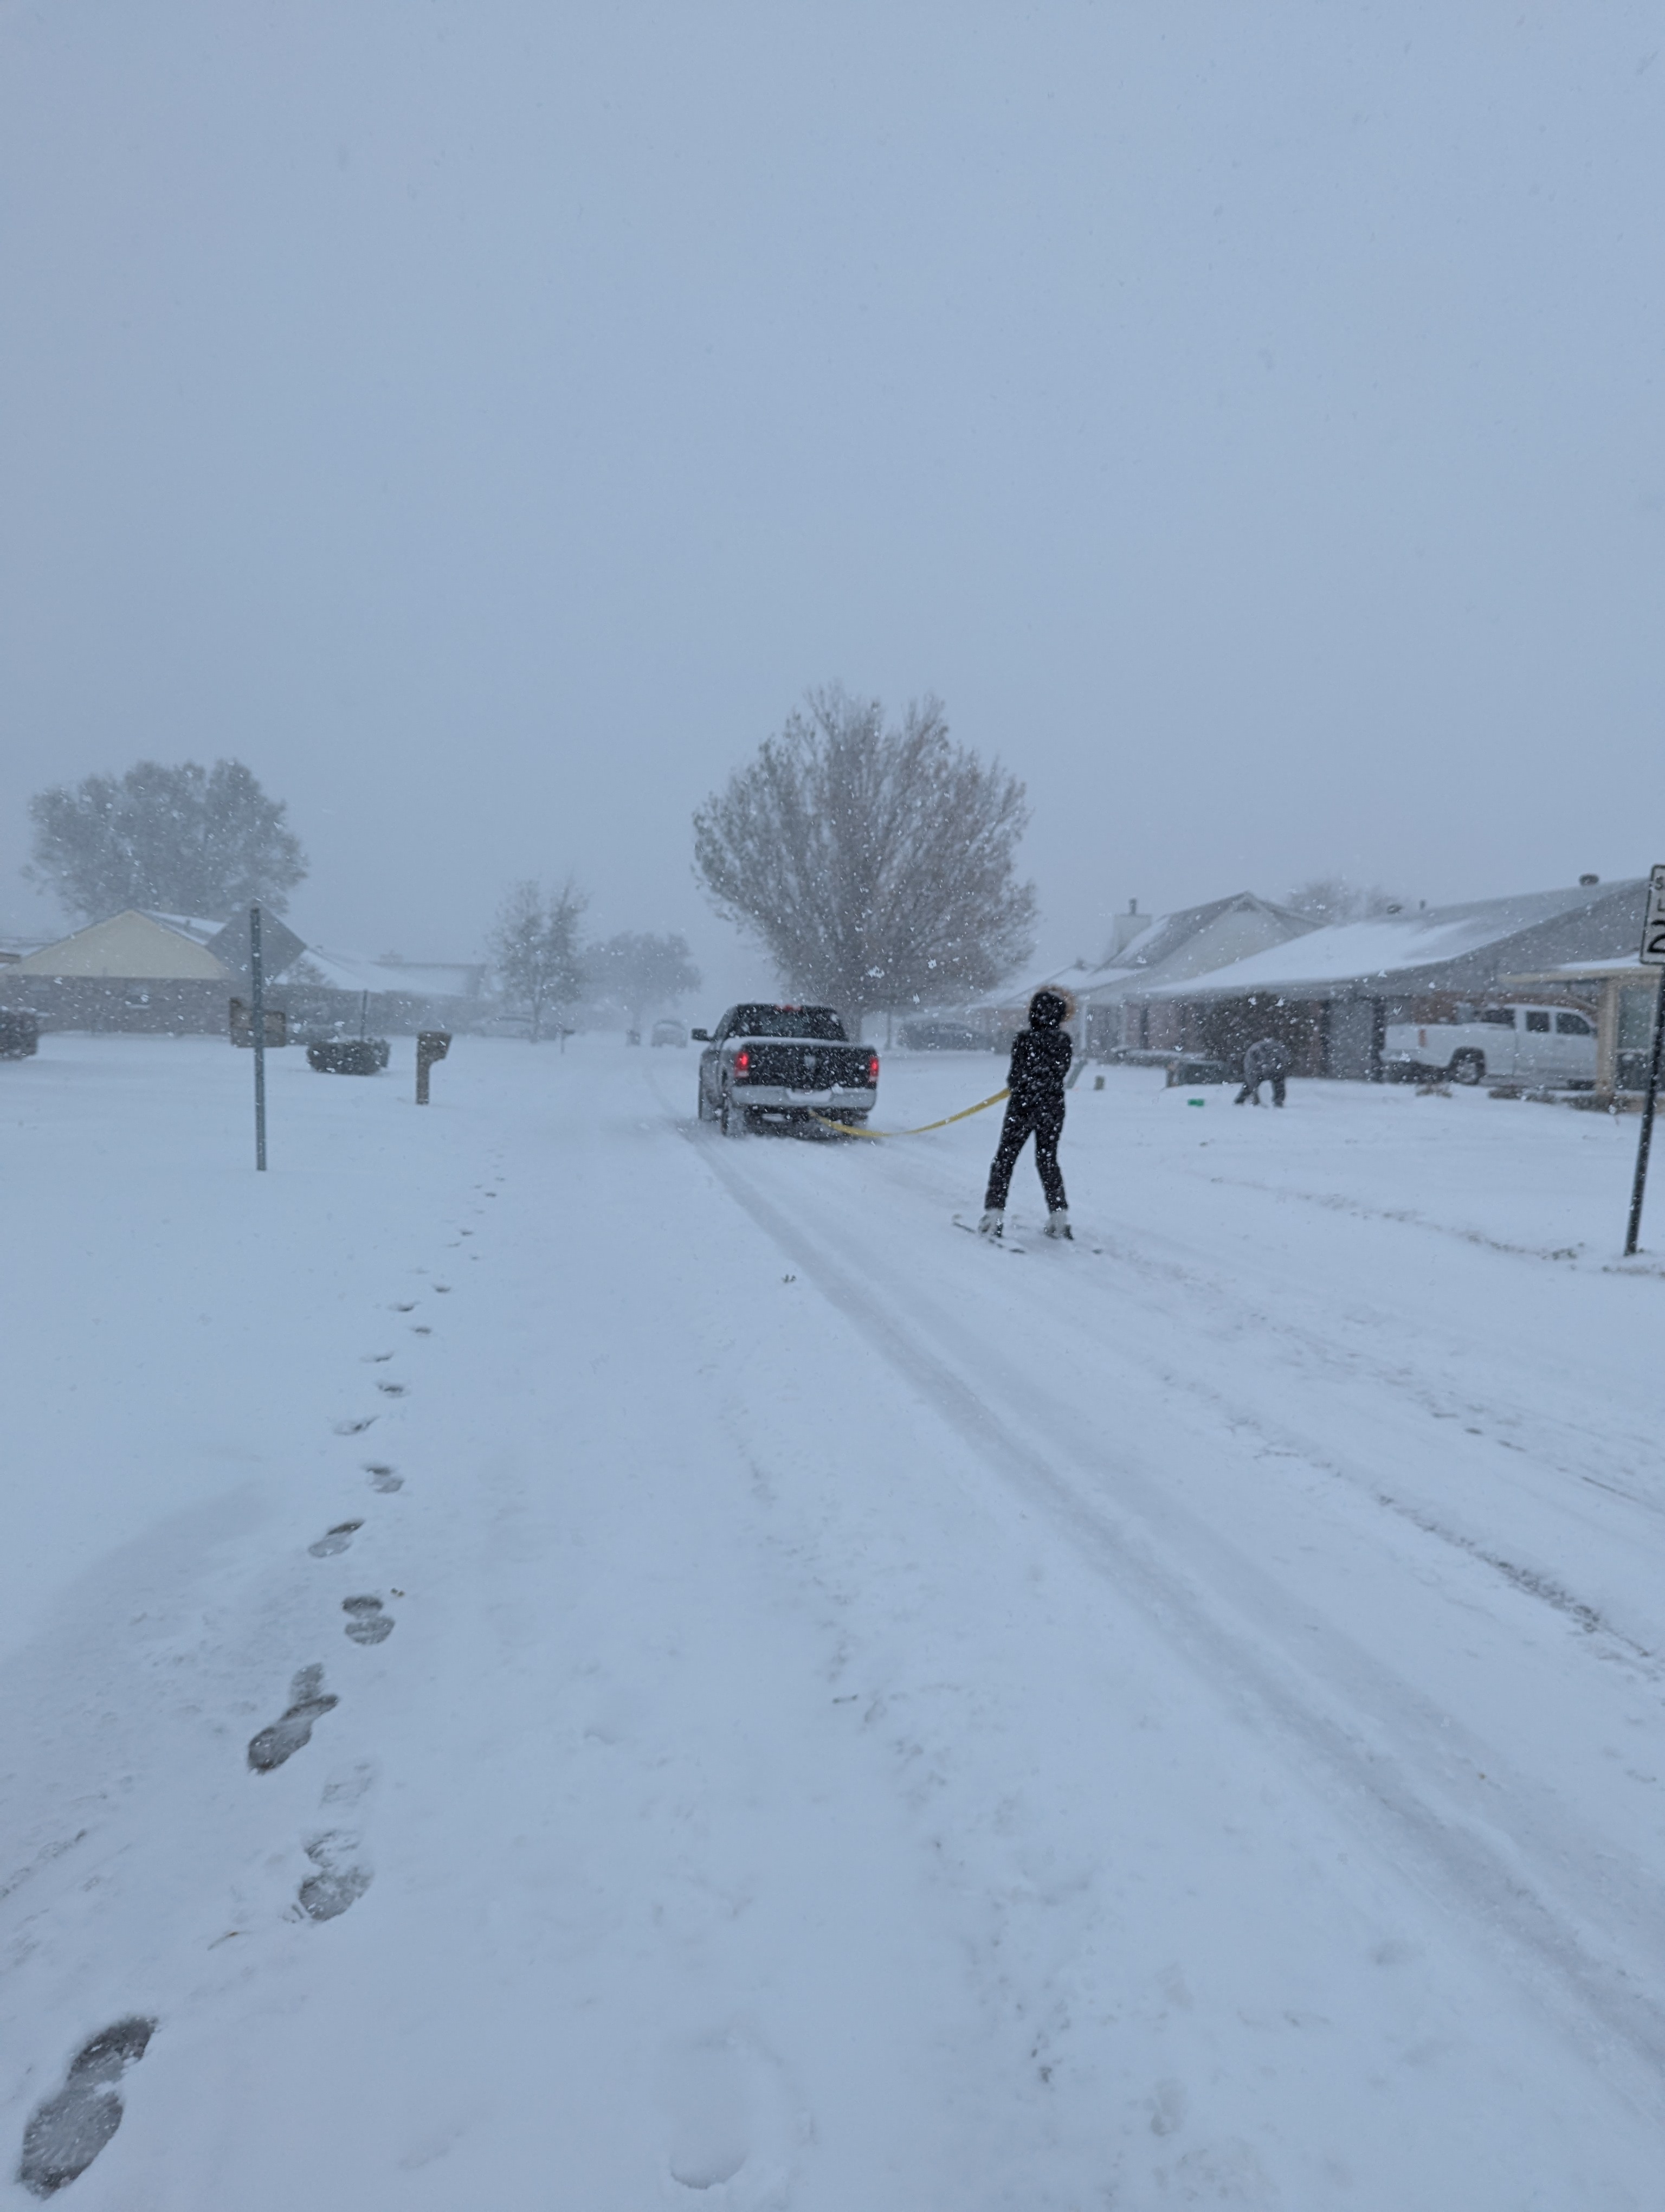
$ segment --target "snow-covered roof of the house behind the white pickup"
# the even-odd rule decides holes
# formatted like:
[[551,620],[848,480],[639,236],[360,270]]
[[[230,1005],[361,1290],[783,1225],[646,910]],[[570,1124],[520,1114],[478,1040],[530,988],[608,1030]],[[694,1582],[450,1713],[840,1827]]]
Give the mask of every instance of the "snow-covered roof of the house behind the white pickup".
[[[1236,991],[1287,991],[1336,984],[1404,982],[1426,969],[1453,967],[1462,960],[1484,964],[1486,953],[1512,938],[1543,931],[1559,920],[1596,916],[1614,909],[1616,927],[1641,898],[1641,883],[1577,885],[1561,891],[1526,891],[1510,898],[1479,898],[1462,907],[1431,907],[1417,914],[1384,914],[1369,922],[1336,922],[1313,929],[1289,945],[1236,960],[1229,969],[1196,975],[1187,982],[1159,984],[1152,998],[1201,998]],[[1636,907],[1636,920],[1641,909]],[[1594,951],[1596,947],[1592,947]],[[1605,951],[1605,947],[1601,947]],[[1495,964],[1495,962],[1493,962]]]

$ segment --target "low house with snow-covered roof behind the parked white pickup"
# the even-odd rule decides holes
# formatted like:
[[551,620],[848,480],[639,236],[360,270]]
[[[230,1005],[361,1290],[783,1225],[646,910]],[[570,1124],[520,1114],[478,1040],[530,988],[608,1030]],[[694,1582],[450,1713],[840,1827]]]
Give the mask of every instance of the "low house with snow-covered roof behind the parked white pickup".
[[[1459,1002],[1497,995],[1504,978],[1581,962],[1634,960],[1645,880],[1420,907],[1338,922],[1227,969],[1152,989],[1152,1026],[1174,1046],[1234,1066],[1276,1035],[1298,1075],[1380,1082],[1389,1022],[1451,1020]],[[1581,1004],[1572,975],[1568,1004]],[[1161,1018],[1156,1009],[1161,1006]]]

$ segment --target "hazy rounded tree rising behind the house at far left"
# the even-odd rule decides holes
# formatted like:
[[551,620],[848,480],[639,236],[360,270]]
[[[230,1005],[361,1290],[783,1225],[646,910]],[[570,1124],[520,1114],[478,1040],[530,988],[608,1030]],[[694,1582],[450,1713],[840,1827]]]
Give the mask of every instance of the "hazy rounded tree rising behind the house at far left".
[[285,812],[241,761],[139,761],[124,776],[35,792],[24,876],[86,920],[126,907],[226,920],[256,898],[283,914],[307,872]]

